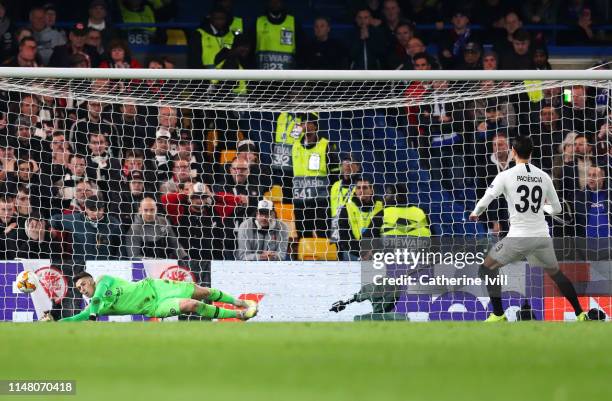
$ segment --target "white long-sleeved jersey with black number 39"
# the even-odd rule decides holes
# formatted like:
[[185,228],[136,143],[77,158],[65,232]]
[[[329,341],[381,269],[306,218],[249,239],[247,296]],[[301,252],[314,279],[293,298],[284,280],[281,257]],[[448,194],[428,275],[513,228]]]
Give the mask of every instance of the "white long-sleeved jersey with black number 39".
[[499,173],[473,214],[480,215],[493,199],[502,194],[510,215],[508,237],[550,237],[543,206],[550,204],[552,214],[556,214],[561,212],[561,204],[548,174],[526,163]]

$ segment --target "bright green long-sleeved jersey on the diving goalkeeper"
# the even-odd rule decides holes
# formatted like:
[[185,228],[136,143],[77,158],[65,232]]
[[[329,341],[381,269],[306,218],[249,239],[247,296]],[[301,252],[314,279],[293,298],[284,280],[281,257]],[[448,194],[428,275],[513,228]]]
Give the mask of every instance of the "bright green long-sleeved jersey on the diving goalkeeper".
[[152,279],[130,282],[118,277],[102,276],[89,305],[80,313],[62,321],[88,320],[90,315],[138,315],[151,313],[155,305]]

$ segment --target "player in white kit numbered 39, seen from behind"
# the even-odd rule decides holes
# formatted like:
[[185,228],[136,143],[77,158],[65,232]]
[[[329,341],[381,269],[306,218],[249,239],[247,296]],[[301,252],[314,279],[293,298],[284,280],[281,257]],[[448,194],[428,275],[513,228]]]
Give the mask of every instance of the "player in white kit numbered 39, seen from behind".
[[529,163],[532,150],[533,143],[529,137],[519,136],[514,140],[512,156],[516,166],[495,177],[470,215],[470,220],[478,221],[478,216],[502,194],[508,203],[508,235],[491,249],[479,270],[493,306],[493,312],[486,321],[507,320],[501,302],[501,285],[499,280],[494,279],[502,266],[525,259],[532,266],[544,268],[574,308],[577,320],[588,320],[588,315],[578,302],[574,285],[559,269],[544,209],[547,209],[547,213],[557,214],[561,212],[561,204],[550,176]]

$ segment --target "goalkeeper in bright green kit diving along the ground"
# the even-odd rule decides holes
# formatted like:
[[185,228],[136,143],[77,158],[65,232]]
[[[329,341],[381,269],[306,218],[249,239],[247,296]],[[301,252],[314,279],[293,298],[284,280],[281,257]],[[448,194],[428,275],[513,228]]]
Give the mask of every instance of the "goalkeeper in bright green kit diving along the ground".
[[[96,282],[87,272],[74,277],[75,287],[90,298],[89,305],[80,313],[60,319],[63,322],[96,320],[98,316],[145,315],[148,317],[177,316],[197,313],[211,319],[237,318],[248,320],[257,314],[255,301],[235,299],[214,288],[195,283],[145,278],[137,282],[104,275]],[[225,302],[238,308],[230,310],[202,301]],[[42,320],[53,320],[46,313]]]

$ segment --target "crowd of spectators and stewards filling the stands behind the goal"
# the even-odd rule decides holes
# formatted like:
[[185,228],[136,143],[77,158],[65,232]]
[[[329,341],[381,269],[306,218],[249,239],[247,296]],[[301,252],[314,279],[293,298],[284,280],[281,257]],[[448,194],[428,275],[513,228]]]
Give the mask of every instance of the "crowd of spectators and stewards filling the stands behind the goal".
[[[144,18],[164,9],[157,3],[165,4],[121,0],[114,6],[127,19]],[[575,22],[575,33],[558,38],[568,44],[605,39],[590,28],[596,1],[526,1],[518,9],[500,0],[465,1],[460,8],[444,1],[367,1],[354,5],[347,41],[330,36],[326,17],[314,20],[309,39],[281,0],[266,2],[266,14],[250,29],[231,3],[216,1],[193,32],[191,68],[550,69],[546,37],[523,29],[524,23]],[[114,29],[104,1],[90,2],[88,18],[67,33],[54,28],[59,13],[53,5],[31,8],[29,25],[14,29],[8,4],[0,2],[0,30],[10,38],[2,47],[4,66],[142,66],[131,55],[135,31],[125,36]],[[440,15],[451,29],[419,32],[418,24],[437,23]],[[472,30],[472,23],[486,29]],[[138,35],[152,38],[157,31],[150,29]],[[155,57],[144,67],[174,63]],[[479,83],[482,90],[497,84]],[[90,90],[109,85],[93,80]],[[147,85],[154,91],[163,83]],[[129,92],[129,85],[113,90]],[[237,83],[237,96],[248,90]],[[387,111],[418,151],[419,169],[439,183],[438,192],[467,210],[495,175],[513,166],[512,139],[529,135],[533,163],[553,176],[572,221],[557,225],[555,234],[612,236],[607,88],[572,85],[435,101],[447,90],[443,81],[408,83],[407,97],[434,100]],[[383,183],[384,193],[377,193],[362,154],[343,151],[321,129],[325,119],[346,117],[277,113],[270,153],[262,154],[239,117],[222,113],[14,91],[0,93],[0,113],[4,260],[287,260],[297,257],[292,245],[301,238],[335,243],[341,259],[358,260],[367,256],[360,244],[368,238],[440,234],[428,207],[410,202],[411,182]],[[230,119],[235,126],[223,124]],[[485,219],[495,235],[507,231],[503,202]]]

